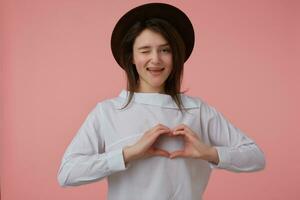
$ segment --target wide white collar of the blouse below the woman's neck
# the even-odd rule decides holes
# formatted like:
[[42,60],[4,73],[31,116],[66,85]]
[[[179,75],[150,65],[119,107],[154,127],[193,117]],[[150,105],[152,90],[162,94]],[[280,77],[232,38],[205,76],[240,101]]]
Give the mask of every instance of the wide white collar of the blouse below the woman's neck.
[[[130,92],[127,90],[122,90],[119,97],[126,99],[129,97]],[[185,108],[195,108],[199,107],[199,103],[184,94],[180,94],[182,103]],[[162,94],[158,92],[144,93],[144,92],[134,92],[132,100],[136,103],[148,104],[154,106],[160,106],[165,108],[178,108],[177,104],[173,101],[172,97],[168,94]]]

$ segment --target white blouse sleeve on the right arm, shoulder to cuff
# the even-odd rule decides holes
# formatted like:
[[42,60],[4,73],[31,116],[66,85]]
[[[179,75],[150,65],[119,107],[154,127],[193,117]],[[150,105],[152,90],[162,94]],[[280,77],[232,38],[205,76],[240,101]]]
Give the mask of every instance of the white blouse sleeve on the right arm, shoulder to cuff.
[[202,129],[219,155],[218,165],[211,164],[211,167],[233,172],[264,169],[265,157],[257,144],[214,107],[202,104],[200,117]]

